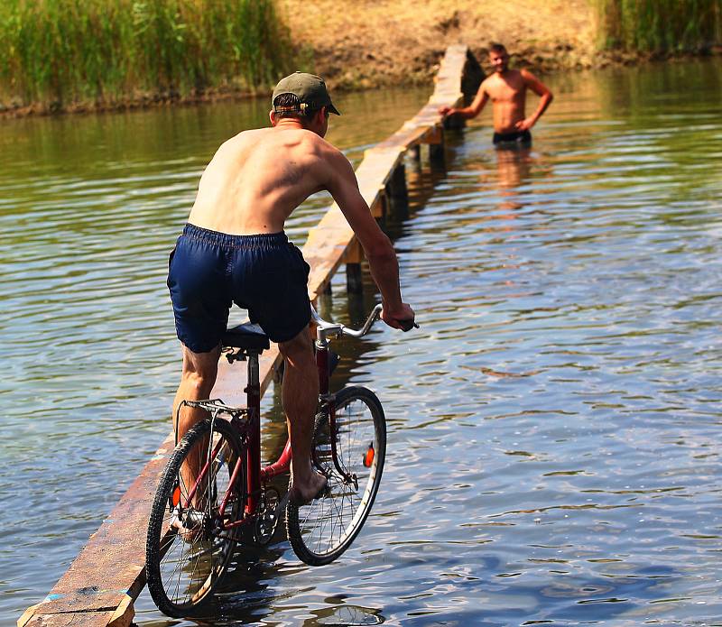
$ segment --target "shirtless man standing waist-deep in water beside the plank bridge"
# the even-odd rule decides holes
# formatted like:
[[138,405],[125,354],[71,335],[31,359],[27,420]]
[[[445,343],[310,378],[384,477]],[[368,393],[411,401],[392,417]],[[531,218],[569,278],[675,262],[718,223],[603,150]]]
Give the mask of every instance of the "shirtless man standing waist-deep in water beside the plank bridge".
[[[526,69],[509,69],[509,53],[502,44],[492,44],[489,48],[489,61],[494,73],[481,84],[471,105],[463,108],[442,106],[439,113],[471,119],[481,113],[491,98],[494,110],[494,144],[528,146],[532,143],[529,129],[542,117],[554,96],[532,72]],[[527,89],[541,97],[539,106],[529,117],[526,117],[525,112]]]

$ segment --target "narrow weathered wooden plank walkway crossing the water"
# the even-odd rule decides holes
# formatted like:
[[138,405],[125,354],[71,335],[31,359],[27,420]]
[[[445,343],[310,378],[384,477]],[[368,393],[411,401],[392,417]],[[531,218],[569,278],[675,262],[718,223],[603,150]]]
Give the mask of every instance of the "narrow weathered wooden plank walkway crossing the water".
[[[401,129],[367,150],[356,169],[362,196],[375,216],[382,215],[385,186],[404,152],[419,143],[441,141],[440,106],[457,106],[463,98],[461,80],[467,64],[467,46],[450,46],[441,62],[436,87],[429,102]],[[326,290],[338,267],[360,261],[360,246],[337,205],[310,230],[303,257],[310,264],[309,297],[316,301]],[[273,381],[281,363],[277,346],[261,358],[262,393]],[[214,398],[229,404],[245,402],[245,364],[218,364]],[[173,447],[172,434],[165,439],[141,475],[90,537],[88,545],[70,565],[42,603],[33,605],[18,620],[18,627],[127,627],[133,601],[145,585],[145,530],[153,494]]]

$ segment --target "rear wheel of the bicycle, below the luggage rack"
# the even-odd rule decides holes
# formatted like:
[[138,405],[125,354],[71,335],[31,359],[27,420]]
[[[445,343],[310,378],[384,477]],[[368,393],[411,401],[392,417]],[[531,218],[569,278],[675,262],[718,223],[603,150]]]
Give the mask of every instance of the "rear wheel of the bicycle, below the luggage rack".
[[[221,520],[219,504],[236,460],[241,462],[238,488],[230,493]],[[200,478],[190,499],[195,477]],[[232,534],[219,527],[224,521],[236,521],[244,505],[245,449],[227,420],[202,420],[173,451],[148,522],[148,590],[162,613],[188,616],[210,597],[236,546]]]

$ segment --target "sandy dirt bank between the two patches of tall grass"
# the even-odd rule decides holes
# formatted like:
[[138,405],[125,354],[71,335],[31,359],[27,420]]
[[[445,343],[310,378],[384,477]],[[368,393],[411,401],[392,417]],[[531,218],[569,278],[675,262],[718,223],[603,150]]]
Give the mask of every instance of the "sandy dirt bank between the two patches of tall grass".
[[516,65],[540,72],[604,63],[588,0],[278,0],[292,39],[336,88],[419,83],[444,50],[466,43],[485,60],[503,42]]

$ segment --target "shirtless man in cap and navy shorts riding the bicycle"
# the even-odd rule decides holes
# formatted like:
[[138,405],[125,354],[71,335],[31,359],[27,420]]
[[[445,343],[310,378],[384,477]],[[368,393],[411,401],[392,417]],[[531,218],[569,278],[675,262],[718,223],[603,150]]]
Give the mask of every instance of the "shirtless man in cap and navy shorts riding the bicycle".
[[[237,134],[208,163],[171,253],[168,287],[183,353],[173,415],[180,401],[210,396],[228,311],[234,302],[248,309],[285,359],[291,498],[303,504],[323,491],[326,479],[310,465],[319,380],[308,328],[310,268],[283,232],[292,211],[311,194],[329,190],[364,248],[381,291],[381,318],[407,328],[414,313],[401,300],[393,245],[371,216],[351,164],[323,139],[329,114],[339,115],[323,79],[301,72],[283,78],[272,106],[271,128]],[[183,408],[178,437],[203,418],[203,410]]]

